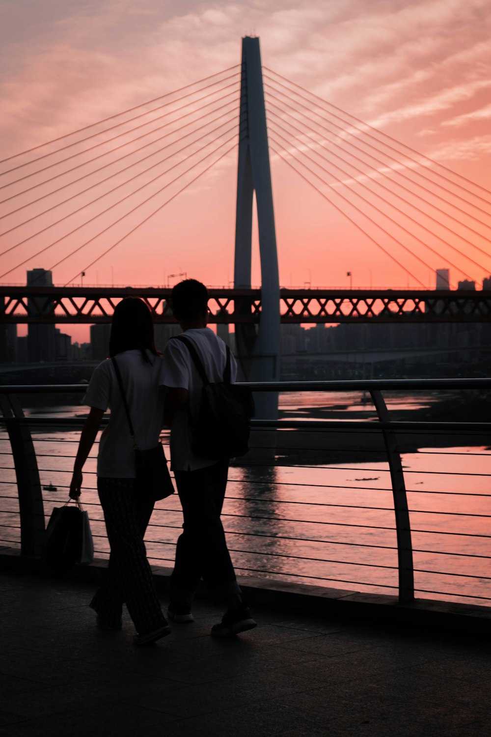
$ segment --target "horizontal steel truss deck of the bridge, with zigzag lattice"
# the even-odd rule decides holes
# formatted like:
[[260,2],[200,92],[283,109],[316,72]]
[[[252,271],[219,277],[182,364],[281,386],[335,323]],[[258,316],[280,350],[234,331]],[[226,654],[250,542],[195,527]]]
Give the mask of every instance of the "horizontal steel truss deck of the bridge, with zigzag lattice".
[[[209,289],[210,322],[257,324],[261,290]],[[5,287],[0,285],[0,320],[4,323],[107,323],[120,299],[146,301],[156,323],[174,323],[170,289],[159,287]],[[281,322],[288,323],[431,323],[487,322],[491,291],[280,290]]]

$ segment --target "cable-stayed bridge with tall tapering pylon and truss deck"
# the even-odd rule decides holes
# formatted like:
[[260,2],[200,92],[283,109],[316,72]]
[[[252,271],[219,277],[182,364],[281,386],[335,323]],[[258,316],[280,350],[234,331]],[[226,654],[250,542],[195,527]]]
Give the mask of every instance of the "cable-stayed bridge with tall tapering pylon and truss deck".
[[[74,282],[237,152],[234,288],[211,290],[211,321],[236,325],[250,380],[278,379],[281,322],[490,319],[490,290],[430,291],[421,274],[490,273],[491,192],[262,66],[258,38],[244,38],[241,64],[0,162],[0,279],[40,259],[55,273],[74,265],[63,287],[0,284],[2,321],[108,321],[128,293],[172,321],[169,290]],[[416,286],[280,289],[270,155],[349,221],[367,259],[369,248],[384,254]],[[261,290],[251,288],[254,192]]]

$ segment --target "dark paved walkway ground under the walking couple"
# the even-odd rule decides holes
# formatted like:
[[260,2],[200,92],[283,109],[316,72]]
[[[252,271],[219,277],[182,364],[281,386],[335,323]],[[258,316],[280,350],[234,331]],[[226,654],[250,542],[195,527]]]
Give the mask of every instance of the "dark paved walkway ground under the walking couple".
[[[101,632],[93,584],[0,575],[0,733],[138,737],[473,737],[491,733],[489,640],[255,607],[257,629],[210,638],[219,609],[146,648]],[[163,604],[166,603],[163,598]]]

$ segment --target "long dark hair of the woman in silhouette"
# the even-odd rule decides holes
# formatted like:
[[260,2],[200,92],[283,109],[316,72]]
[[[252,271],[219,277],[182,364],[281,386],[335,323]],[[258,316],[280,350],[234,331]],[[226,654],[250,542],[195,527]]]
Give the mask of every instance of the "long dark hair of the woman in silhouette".
[[146,350],[158,356],[155,348],[152,313],[138,297],[126,297],[116,305],[109,338],[109,355],[140,349],[146,361]]

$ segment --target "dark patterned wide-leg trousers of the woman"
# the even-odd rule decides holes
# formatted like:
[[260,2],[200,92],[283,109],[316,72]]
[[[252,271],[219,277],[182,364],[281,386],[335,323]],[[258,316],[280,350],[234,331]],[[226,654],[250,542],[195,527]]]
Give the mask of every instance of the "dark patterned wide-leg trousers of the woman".
[[90,606],[109,623],[121,619],[126,603],[140,634],[166,624],[146,559],[144,534],[153,501],[134,478],[98,478],[97,489],[110,543],[109,572]]

